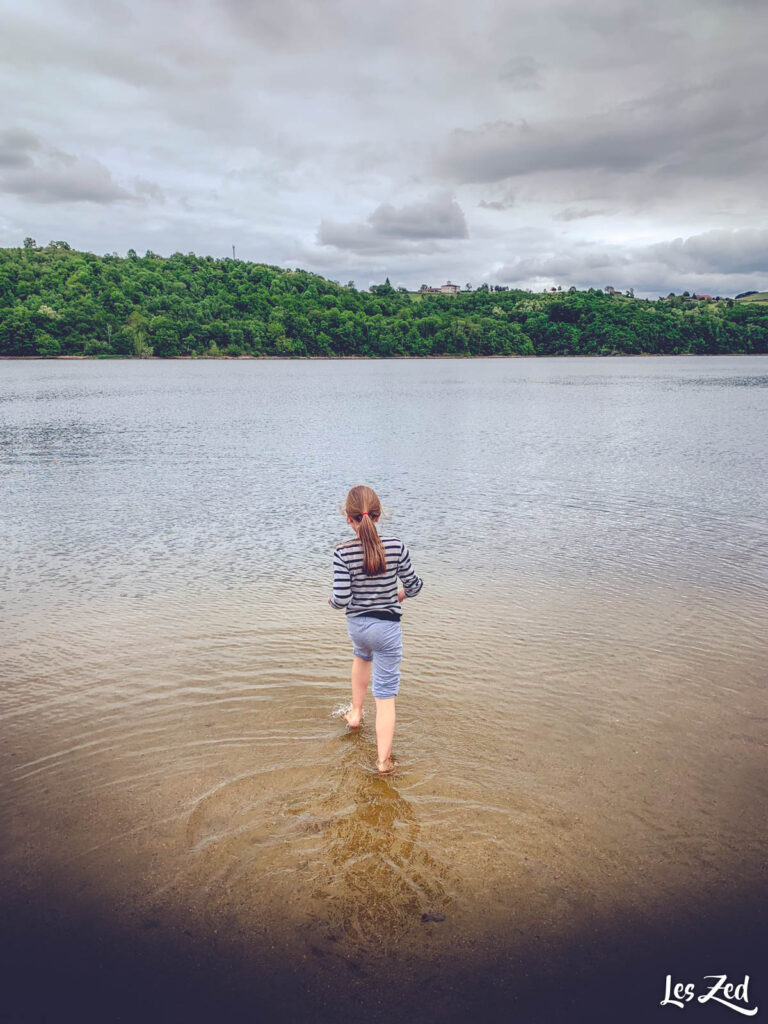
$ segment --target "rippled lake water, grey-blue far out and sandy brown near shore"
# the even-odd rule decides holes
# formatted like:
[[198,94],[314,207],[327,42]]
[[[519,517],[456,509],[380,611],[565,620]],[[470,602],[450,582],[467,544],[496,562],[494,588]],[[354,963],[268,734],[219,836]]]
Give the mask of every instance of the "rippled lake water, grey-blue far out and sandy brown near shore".
[[[12,1019],[768,1002],[767,425],[752,356],[1,361]],[[358,482],[424,580],[390,778]]]

